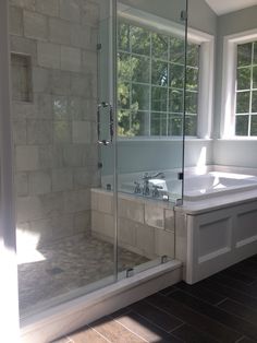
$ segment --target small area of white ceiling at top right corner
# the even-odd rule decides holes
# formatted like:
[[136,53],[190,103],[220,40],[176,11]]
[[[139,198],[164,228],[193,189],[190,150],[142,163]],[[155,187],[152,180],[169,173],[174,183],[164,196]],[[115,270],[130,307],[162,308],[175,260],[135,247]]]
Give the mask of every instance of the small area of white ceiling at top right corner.
[[205,1],[218,15],[238,11],[257,4],[257,0],[205,0]]

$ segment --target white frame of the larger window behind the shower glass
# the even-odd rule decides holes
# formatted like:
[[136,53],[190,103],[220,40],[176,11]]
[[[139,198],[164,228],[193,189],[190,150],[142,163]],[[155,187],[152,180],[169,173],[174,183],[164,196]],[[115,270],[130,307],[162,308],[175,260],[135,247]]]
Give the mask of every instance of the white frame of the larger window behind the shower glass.
[[[131,23],[145,25],[151,29],[158,29],[163,34],[171,34],[178,37],[185,36],[183,25],[121,3],[118,5],[118,17],[125,19]],[[210,139],[213,111],[215,37],[188,27],[187,40],[188,43],[200,45],[197,137],[193,137],[193,139]],[[119,140],[132,139],[134,138],[119,138]],[[142,137],[142,139],[152,140],[156,138]],[[175,138],[163,137],[161,139],[172,140]]]

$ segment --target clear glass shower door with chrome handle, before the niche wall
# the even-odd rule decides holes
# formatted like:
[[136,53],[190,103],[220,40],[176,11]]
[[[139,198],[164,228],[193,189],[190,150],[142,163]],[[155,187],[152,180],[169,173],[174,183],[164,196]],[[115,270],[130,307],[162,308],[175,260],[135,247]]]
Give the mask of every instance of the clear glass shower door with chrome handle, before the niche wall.
[[[97,144],[96,116],[97,102],[105,102],[100,137],[110,140],[111,2],[37,3],[36,12],[35,1],[10,5],[10,46],[19,56],[13,94],[23,95],[12,103],[22,318],[114,282],[117,265],[113,149]],[[122,26],[119,45],[128,51],[127,29]],[[88,33],[90,39],[85,39]],[[26,62],[22,69],[21,60]],[[131,80],[130,56],[121,55],[119,64],[119,78]],[[119,106],[130,108],[128,84],[119,87]],[[101,185],[112,186],[98,199]],[[103,239],[107,232],[109,239]],[[122,251],[120,258],[127,265],[132,255]]]

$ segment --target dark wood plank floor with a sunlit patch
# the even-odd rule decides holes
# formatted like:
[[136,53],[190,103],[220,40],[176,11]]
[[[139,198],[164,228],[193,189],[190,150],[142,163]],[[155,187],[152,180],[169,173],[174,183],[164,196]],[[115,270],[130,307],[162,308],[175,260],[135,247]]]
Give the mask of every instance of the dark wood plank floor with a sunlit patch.
[[195,285],[166,288],[57,342],[257,342],[257,255]]

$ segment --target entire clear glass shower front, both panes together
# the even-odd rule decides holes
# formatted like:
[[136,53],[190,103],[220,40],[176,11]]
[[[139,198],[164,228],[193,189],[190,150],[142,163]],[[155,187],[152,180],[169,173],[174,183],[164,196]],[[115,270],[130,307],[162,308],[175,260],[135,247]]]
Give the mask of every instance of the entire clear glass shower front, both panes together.
[[21,318],[174,258],[186,1],[10,1]]

